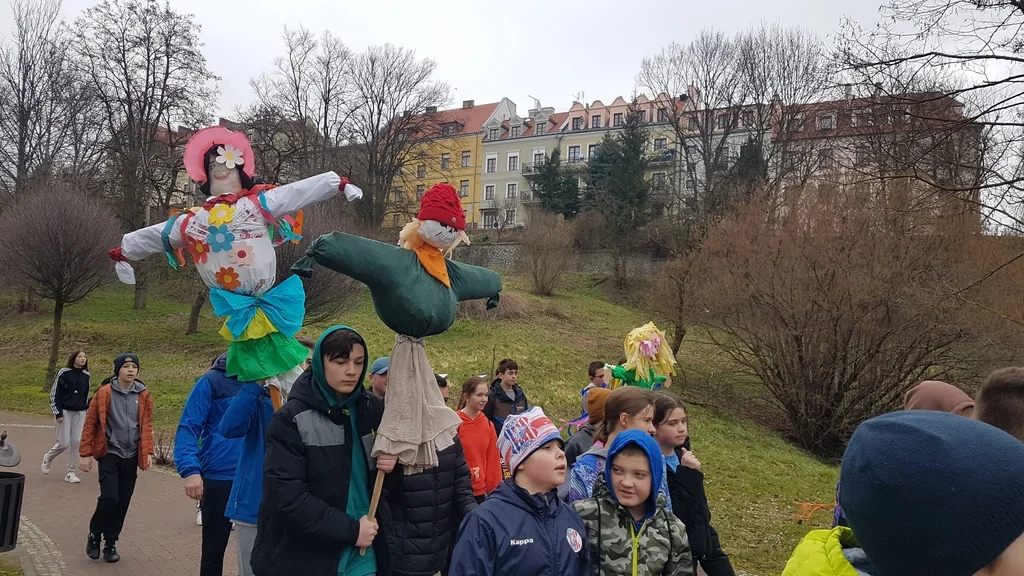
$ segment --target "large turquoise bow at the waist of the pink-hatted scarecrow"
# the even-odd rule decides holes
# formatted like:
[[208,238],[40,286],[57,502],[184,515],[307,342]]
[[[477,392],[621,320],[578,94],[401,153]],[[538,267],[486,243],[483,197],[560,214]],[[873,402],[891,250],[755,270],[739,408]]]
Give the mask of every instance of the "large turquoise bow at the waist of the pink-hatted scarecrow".
[[290,276],[288,280],[255,297],[211,288],[210,303],[213,304],[214,314],[227,318],[225,325],[236,339],[249,327],[257,310],[263,311],[279,332],[294,336],[302,327],[302,319],[306,314],[306,292],[299,277]]

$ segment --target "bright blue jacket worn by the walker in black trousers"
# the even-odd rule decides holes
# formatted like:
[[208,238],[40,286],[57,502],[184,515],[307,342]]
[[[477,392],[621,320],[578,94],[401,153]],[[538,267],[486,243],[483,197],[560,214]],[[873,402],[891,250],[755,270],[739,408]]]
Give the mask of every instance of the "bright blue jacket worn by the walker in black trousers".
[[220,355],[185,400],[174,435],[174,465],[181,478],[198,474],[205,480],[234,480],[242,440],[224,438],[217,427],[244,384],[224,373],[226,365],[227,355]]

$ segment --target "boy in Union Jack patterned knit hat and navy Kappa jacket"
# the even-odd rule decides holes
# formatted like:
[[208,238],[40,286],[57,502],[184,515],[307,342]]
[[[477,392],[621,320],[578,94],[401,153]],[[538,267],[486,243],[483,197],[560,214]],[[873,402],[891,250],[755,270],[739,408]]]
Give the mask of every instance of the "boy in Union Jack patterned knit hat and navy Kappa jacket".
[[586,528],[555,491],[565,481],[558,427],[540,408],[510,415],[498,451],[512,478],[463,521],[450,576],[590,576]]

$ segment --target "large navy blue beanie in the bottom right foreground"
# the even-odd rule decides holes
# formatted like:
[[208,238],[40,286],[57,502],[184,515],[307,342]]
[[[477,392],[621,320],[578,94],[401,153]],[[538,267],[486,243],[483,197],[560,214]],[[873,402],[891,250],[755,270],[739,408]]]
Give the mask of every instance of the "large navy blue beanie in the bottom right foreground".
[[1024,443],[977,420],[927,410],[867,420],[840,477],[877,576],[973,576],[1024,534]]

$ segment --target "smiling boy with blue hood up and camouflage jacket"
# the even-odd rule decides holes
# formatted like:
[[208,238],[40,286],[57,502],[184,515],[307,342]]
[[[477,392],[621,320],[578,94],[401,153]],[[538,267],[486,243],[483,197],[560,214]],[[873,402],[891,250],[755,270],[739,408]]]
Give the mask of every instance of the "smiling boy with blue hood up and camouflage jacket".
[[597,576],[692,575],[686,527],[654,489],[665,476],[650,435],[626,430],[608,447],[604,480],[594,496],[571,505],[584,524]]

